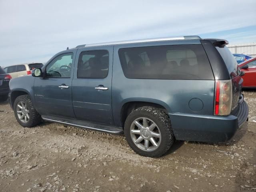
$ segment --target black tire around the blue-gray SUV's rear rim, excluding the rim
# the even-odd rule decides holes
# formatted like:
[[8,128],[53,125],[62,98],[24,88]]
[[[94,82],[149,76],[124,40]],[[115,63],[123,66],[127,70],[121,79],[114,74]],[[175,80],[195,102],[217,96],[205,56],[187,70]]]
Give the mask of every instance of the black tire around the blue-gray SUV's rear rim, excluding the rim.
[[[155,150],[142,150],[138,146],[136,146],[136,144],[132,140],[130,134],[130,126],[134,120],[140,117],[145,117],[153,120],[154,123],[158,126],[158,129],[160,130],[161,142],[158,148],[156,148]],[[134,152],[136,152],[137,154],[146,157],[160,157],[164,155],[170,149],[175,139],[169,116],[164,111],[151,106],[144,106],[138,108],[128,115],[124,123],[124,134],[132,150],[134,150]]]

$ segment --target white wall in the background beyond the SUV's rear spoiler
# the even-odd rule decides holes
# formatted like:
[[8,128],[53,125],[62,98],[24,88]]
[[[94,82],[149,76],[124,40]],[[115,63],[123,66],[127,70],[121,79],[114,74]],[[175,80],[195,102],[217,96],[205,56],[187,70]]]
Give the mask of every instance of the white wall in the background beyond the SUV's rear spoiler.
[[229,50],[235,54],[245,54],[251,57],[256,57],[256,43],[246,43],[246,44],[229,44],[227,46]]

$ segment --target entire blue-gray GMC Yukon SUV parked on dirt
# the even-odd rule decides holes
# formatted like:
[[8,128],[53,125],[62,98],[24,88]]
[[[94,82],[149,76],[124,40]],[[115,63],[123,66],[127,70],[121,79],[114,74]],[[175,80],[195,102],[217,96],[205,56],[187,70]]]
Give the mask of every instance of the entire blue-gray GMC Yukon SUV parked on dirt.
[[159,157],[174,140],[224,142],[248,120],[242,75],[220,39],[198,36],[80,45],[10,81],[20,125],[42,120],[122,134]]

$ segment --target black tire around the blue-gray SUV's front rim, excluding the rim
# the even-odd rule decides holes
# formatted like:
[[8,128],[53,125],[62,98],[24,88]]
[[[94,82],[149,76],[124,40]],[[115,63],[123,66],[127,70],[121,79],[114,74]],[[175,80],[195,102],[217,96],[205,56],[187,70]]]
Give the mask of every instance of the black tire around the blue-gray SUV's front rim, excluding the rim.
[[[26,123],[20,121],[20,119],[18,118],[17,104],[20,101],[24,102],[29,110],[30,118],[29,118],[28,122],[26,122]],[[32,101],[30,100],[30,97],[28,95],[18,96],[14,101],[13,109],[14,109],[14,114],[15,114],[16,120],[23,127],[34,127],[42,122],[41,115],[34,108],[34,105],[32,104]]]

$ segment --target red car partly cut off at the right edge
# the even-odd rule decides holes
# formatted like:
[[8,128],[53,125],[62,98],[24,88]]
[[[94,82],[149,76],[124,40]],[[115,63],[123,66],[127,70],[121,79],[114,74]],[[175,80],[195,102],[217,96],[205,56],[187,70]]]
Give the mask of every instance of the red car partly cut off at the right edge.
[[256,58],[251,58],[240,63],[239,67],[245,73],[243,76],[243,87],[256,88]]

